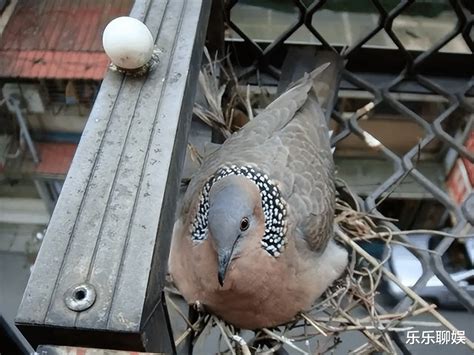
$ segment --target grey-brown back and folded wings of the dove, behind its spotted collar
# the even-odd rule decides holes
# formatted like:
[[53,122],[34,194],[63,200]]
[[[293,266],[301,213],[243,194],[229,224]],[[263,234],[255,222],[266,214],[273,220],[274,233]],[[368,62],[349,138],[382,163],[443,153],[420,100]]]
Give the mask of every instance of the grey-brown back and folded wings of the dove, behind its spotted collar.
[[333,163],[324,114],[310,92],[325,67],[306,74],[205,159],[188,187],[183,214],[197,204],[219,167],[255,164],[278,183],[310,249],[327,244],[334,215]]

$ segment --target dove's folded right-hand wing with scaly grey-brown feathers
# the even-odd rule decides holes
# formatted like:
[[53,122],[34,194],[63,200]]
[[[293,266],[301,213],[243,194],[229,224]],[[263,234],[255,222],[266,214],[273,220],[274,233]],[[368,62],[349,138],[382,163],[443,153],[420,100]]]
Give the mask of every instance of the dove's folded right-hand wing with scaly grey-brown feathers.
[[290,147],[288,159],[292,172],[292,192],[288,204],[297,220],[298,236],[311,250],[320,251],[332,237],[334,220],[334,163],[329,145],[329,132],[318,106],[300,110],[286,134],[284,143]]

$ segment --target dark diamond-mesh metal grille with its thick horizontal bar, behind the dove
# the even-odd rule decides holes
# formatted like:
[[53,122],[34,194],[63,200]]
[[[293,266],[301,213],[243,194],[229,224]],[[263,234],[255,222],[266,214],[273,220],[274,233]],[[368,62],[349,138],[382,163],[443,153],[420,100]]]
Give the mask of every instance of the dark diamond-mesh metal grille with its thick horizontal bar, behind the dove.
[[[291,45],[288,40],[296,31],[306,28],[314,36],[314,43],[310,45],[337,52],[346,60],[340,88],[370,93],[370,99],[351,110],[351,115],[348,116],[340,104],[336,104],[332,113],[334,121],[332,123],[337,126],[333,144],[338,145],[354,135],[366,142],[367,137],[376,138],[377,154],[393,166],[393,171],[387,179],[379,186],[375,186],[366,196],[361,197],[365,210],[380,214],[377,208],[381,210],[382,200],[389,196],[398,184],[411,179],[419,184],[430,198],[444,206],[446,213],[451,216],[452,222],[447,229],[444,229],[445,232],[457,236],[470,233],[472,225],[469,221],[471,223],[473,221],[473,208],[472,203],[469,207],[469,200],[472,201],[472,193],[471,199],[465,198],[464,202],[455,202],[443,188],[432,181],[430,176],[419,169],[417,162],[420,154],[426,152],[430,144],[434,143],[441,145],[440,154],[443,157],[451,154],[462,157],[467,164],[474,162],[472,150],[469,151],[465,146],[467,137],[472,134],[474,117],[473,3],[460,0],[443,2],[443,6],[455,14],[455,23],[448,33],[435,43],[431,43],[426,50],[408,49],[399,33],[394,30],[397,17],[410,11],[416,3],[423,2],[413,0],[367,2],[373,7],[373,13],[378,18],[377,23],[360,39],[348,46],[331,43],[319,30],[317,21],[316,23],[313,21],[313,17],[320,11],[341,1],[289,0],[286,3],[294,7],[293,13],[297,14],[295,22],[288,24],[288,28],[276,39],[266,42],[251,38],[235,21],[233,13],[239,5],[238,0],[231,0],[226,4],[228,30],[240,37],[227,42],[231,58],[238,68],[239,78],[248,83],[258,81],[261,84],[266,81],[275,84],[281,77],[283,58]],[[351,2],[345,2],[346,5],[349,3]],[[362,2],[357,2],[360,3]],[[391,9],[387,10],[387,7]],[[393,49],[369,46],[369,42],[380,33],[385,33],[390,38]],[[453,39],[464,41],[467,53],[446,53],[441,50]],[[434,116],[428,117],[402,100],[400,94],[403,93],[435,95],[444,103]],[[378,140],[361,124],[367,115],[384,107],[389,107],[404,120],[421,127],[423,132],[421,139],[408,151],[399,152],[385,145],[383,140]],[[392,223],[387,224],[392,230],[398,229]],[[403,242],[410,243],[408,238],[403,236],[400,238]],[[423,275],[413,289],[421,290],[435,274],[468,310],[474,311],[473,298],[458,287],[442,262],[442,255],[455,239],[440,238],[440,242],[434,247],[435,253],[414,252],[422,264]],[[409,302],[408,298],[401,300],[395,308],[404,309]]]

